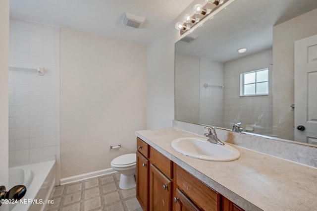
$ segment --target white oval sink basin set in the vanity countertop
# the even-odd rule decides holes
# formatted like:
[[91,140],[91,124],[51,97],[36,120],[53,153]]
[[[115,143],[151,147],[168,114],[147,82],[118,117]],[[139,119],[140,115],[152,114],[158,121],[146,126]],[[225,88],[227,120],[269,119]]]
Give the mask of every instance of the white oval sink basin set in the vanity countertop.
[[213,144],[204,138],[179,138],[171,146],[183,155],[198,159],[230,161],[240,157],[240,152],[228,144]]

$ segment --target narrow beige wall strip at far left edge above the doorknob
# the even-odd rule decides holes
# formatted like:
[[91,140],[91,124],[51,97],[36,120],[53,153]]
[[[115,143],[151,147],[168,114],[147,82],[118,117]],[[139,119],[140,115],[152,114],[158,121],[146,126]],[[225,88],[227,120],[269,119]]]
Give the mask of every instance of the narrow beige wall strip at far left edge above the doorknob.
[[[0,1],[0,185],[8,182],[9,0]],[[7,187],[8,188],[8,187]],[[3,206],[5,207],[5,206]],[[5,208],[3,208],[5,209]]]

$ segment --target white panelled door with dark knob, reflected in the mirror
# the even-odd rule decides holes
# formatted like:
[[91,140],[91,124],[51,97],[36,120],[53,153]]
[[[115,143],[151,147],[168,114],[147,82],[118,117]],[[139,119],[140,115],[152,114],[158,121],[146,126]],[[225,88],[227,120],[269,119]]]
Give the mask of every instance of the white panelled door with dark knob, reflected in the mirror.
[[317,144],[317,35],[295,41],[295,141]]

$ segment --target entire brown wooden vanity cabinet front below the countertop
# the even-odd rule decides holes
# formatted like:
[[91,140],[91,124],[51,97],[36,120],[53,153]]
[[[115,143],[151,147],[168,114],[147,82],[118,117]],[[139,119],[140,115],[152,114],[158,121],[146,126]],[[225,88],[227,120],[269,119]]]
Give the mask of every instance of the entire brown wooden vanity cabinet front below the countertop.
[[143,211],[243,211],[137,138],[136,197]]

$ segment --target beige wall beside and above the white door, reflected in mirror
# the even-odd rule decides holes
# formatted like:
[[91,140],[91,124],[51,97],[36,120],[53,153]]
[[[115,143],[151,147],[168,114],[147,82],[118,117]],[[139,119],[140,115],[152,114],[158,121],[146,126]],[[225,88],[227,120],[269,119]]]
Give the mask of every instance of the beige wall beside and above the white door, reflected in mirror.
[[317,9],[273,27],[273,133],[294,139],[294,42],[317,34]]

